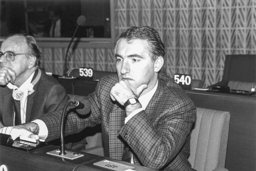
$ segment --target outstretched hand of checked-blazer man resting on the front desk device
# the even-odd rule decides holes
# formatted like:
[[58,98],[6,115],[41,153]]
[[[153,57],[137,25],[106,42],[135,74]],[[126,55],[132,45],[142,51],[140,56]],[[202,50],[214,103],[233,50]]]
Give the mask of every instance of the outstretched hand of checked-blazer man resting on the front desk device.
[[38,140],[39,136],[37,134],[39,133],[39,126],[34,122],[29,122],[13,127],[4,127],[0,130],[0,133],[11,135],[13,140],[20,136]]

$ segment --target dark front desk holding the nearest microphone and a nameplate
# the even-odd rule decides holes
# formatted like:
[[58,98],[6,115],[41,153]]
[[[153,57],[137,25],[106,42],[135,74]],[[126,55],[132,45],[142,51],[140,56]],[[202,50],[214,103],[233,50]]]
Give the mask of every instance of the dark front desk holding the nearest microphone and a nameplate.
[[[5,165],[8,171],[103,171],[106,169],[95,166],[94,163],[102,160],[109,160],[128,166],[133,166],[134,170],[154,171],[153,169],[149,169],[143,166],[138,166],[123,161],[83,152],[79,152],[80,154],[84,154],[83,157],[74,160],[62,159],[60,157],[46,154],[46,152],[56,149],[57,146],[50,145],[26,152],[0,145],[0,166]],[[72,151],[75,152],[75,150]]]

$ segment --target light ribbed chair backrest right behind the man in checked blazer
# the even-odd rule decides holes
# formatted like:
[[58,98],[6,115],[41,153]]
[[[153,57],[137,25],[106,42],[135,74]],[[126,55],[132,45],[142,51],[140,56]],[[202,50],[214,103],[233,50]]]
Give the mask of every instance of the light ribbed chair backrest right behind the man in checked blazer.
[[225,167],[230,113],[197,108],[188,161],[198,171]]

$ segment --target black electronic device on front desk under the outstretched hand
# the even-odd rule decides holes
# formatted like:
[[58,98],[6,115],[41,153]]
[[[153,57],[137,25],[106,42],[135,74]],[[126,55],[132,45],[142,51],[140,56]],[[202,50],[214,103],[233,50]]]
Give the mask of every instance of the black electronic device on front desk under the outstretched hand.
[[0,133],[0,145],[28,152],[47,146],[48,144],[35,140],[29,141],[29,138],[25,137],[18,137],[16,140],[13,140],[10,135]]

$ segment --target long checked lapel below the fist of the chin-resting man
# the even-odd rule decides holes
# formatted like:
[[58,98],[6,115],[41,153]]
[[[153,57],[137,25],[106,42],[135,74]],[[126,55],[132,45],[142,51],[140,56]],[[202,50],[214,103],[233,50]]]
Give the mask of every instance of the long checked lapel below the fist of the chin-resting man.
[[109,114],[109,153],[110,158],[122,160],[124,143],[118,134],[119,129],[124,126],[125,110],[118,105],[114,105],[112,112]]

